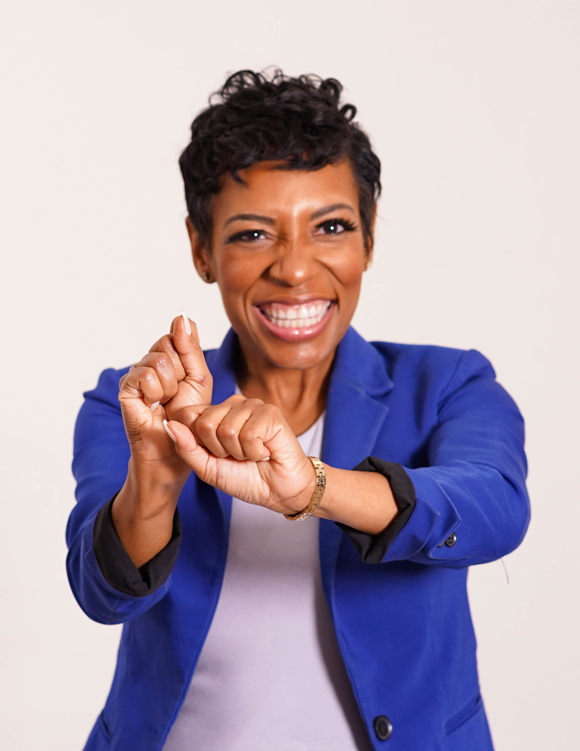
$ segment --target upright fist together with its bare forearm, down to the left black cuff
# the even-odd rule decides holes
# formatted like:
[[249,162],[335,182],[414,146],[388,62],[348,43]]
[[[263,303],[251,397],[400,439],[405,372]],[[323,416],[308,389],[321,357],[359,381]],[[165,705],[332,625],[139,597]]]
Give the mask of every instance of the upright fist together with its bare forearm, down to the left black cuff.
[[195,324],[179,316],[119,384],[131,446],[127,478],[111,509],[122,546],[139,568],[171,540],[177,499],[191,467],[174,451],[163,421],[211,402],[212,377]]

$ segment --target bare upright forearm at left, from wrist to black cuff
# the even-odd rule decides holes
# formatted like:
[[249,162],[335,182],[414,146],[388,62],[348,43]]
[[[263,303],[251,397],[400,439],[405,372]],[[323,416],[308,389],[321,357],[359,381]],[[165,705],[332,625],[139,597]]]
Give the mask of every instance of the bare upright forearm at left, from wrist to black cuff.
[[137,569],[171,540],[174,514],[189,472],[153,472],[129,462],[111,515],[119,541]]

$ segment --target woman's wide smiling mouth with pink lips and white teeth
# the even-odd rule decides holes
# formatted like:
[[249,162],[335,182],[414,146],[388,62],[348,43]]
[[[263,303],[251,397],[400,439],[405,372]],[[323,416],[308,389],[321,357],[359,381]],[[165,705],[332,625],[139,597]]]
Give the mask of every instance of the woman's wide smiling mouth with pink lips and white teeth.
[[334,300],[309,300],[298,305],[259,303],[254,309],[275,336],[298,341],[317,336],[328,323],[334,307]]

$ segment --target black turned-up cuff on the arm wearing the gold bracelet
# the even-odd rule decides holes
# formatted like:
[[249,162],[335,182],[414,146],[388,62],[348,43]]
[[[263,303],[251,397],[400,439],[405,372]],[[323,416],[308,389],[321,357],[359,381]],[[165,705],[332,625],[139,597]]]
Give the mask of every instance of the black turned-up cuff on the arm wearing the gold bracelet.
[[411,517],[416,503],[415,486],[400,464],[385,462],[384,459],[367,457],[355,466],[354,470],[355,472],[379,472],[387,478],[395,503],[399,509],[397,517],[394,518],[380,535],[369,535],[366,532],[353,529],[352,526],[337,522],[340,529],[346,532],[349,538],[351,538],[364,563],[380,563],[394,538],[397,537],[400,530],[403,529],[403,526],[405,526]]

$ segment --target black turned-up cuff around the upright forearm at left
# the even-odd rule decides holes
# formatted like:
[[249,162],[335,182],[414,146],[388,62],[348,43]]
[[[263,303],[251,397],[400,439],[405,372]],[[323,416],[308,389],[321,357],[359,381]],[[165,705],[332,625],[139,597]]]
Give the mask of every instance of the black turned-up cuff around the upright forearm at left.
[[181,543],[180,514],[175,509],[171,540],[140,569],[134,565],[117,537],[111,509],[117,493],[101,508],[95,518],[92,547],[98,566],[111,587],[125,595],[144,597],[153,594],[168,580],[177,560]]

